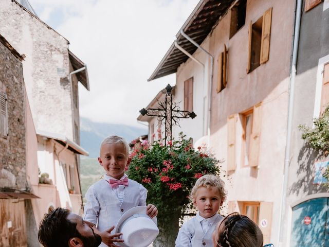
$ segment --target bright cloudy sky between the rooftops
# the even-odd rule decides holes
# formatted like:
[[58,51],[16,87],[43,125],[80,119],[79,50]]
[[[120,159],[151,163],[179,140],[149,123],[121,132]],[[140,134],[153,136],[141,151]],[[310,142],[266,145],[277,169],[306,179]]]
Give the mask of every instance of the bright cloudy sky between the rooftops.
[[90,91],[80,83],[80,116],[96,122],[137,122],[175,74],[148,82],[199,0],[29,0],[42,21],[69,40],[87,64]]

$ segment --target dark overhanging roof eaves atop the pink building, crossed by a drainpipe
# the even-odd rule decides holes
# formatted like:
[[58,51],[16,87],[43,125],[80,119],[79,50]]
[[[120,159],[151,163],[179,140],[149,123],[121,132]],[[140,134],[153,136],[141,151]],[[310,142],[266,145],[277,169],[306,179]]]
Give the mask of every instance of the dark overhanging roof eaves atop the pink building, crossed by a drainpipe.
[[213,27],[221,19],[221,16],[227,13],[234,1],[235,0],[201,0],[184,25],[179,29],[176,34],[177,39],[172,43],[165,57],[162,58],[148,81],[176,73],[179,65],[188,60],[189,57],[175,47],[176,41],[178,45],[187,50],[189,54],[193,54],[197,49],[195,45],[182,36],[181,30],[197,44],[202,44]]

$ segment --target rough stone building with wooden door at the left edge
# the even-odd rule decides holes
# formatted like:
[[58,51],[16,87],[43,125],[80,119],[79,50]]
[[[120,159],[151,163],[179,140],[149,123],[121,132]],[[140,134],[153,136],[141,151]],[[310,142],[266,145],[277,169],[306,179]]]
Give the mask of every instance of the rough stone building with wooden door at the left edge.
[[[37,241],[27,181],[26,93],[23,57],[0,35],[0,242],[1,246],[28,246]],[[35,169],[35,167],[34,167]],[[27,225],[33,225],[30,231]]]

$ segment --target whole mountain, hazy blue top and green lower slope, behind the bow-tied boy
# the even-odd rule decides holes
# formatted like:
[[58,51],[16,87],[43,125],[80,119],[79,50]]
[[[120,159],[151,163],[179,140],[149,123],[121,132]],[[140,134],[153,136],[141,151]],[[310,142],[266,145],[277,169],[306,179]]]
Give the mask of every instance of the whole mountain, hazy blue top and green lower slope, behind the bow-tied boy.
[[100,180],[104,174],[103,167],[98,163],[99,146],[102,140],[109,135],[120,135],[128,142],[140,135],[148,133],[145,127],[137,128],[113,123],[93,122],[87,118],[80,118],[80,146],[88,153],[89,157],[81,156],[80,182],[84,196],[90,185]]

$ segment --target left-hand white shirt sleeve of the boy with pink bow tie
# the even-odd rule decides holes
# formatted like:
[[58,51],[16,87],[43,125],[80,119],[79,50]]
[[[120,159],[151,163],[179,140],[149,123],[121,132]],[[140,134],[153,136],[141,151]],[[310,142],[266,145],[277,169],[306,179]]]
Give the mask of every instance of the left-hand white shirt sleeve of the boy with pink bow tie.
[[90,186],[86,192],[87,203],[84,205],[83,219],[97,224],[98,213],[100,209],[99,201],[95,195],[94,186]]

